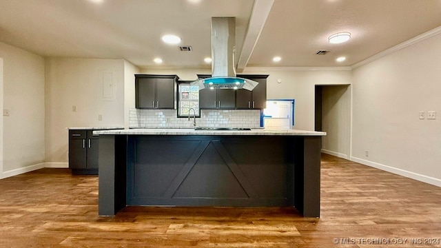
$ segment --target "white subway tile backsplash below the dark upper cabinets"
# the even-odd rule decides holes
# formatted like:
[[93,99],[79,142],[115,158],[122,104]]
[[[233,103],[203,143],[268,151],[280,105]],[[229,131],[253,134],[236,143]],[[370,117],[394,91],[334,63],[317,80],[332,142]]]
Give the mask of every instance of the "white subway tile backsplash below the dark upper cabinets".
[[[193,118],[178,118],[177,110],[130,108],[129,127],[193,127]],[[260,127],[260,110],[201,110],[198,127]]]

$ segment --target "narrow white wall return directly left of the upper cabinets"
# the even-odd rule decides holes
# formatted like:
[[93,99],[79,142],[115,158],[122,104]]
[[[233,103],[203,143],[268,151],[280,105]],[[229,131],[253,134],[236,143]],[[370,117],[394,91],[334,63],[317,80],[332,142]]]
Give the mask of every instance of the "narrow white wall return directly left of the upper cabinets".
[[124,61],[124,127],[129,128],[129,110],[135,107],[135,76],[139,69]]

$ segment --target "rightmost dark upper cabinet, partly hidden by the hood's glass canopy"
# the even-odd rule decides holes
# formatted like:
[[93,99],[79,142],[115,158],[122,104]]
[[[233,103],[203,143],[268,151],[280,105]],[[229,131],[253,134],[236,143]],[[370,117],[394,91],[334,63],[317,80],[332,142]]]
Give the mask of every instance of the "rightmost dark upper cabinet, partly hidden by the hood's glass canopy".
[[244,79],[251,79],[259,84],[252,91],[236,91],[236,108],[238,109],[264,109],[267,103],[267,77],[268,75],[237,75]]

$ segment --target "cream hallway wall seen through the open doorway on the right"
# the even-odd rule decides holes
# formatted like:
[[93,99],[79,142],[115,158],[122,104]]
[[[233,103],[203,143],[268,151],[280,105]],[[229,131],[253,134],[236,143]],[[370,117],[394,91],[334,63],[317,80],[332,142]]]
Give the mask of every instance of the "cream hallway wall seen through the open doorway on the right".
[[351,135],[350,85],[322,87],[322,151],[349,159]]

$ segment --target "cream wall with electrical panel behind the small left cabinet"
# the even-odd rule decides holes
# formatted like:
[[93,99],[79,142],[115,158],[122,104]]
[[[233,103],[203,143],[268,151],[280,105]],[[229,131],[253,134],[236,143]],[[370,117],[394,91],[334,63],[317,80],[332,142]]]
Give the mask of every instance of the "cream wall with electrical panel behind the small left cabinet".
[[68,166],[67,127],[124,127],[124,68],[123,59],[46,59],[47,163]]

